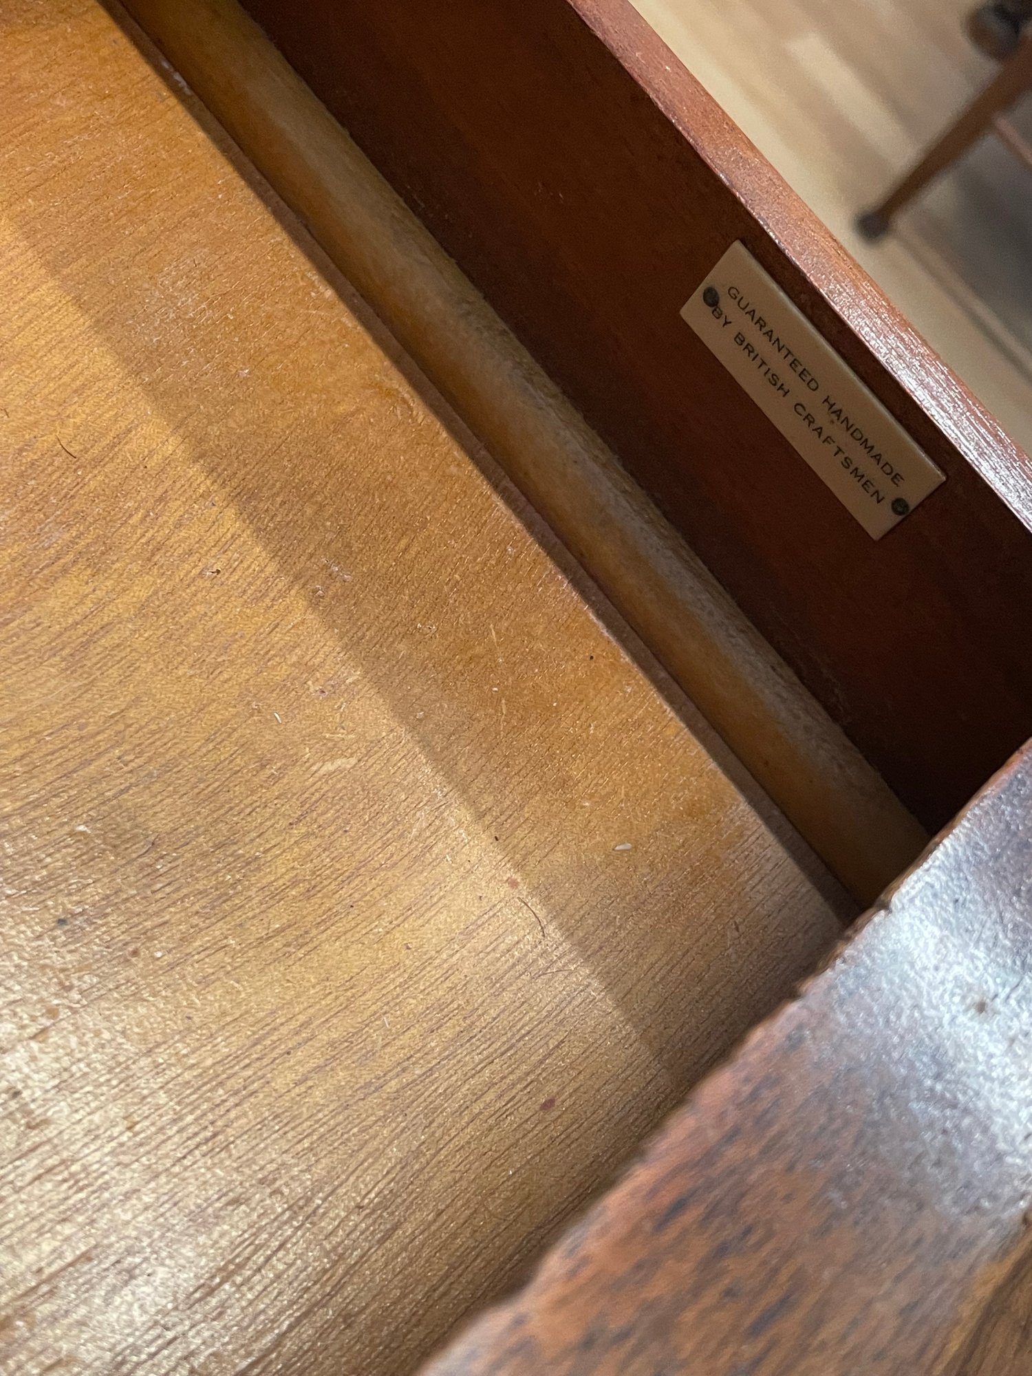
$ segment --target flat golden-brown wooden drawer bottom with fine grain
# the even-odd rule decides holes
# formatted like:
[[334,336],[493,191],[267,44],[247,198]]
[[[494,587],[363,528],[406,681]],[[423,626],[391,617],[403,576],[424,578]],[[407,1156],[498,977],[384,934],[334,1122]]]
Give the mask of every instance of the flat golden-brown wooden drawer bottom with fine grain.
[[850,905],[99,6],[0,66],[0,1366],[395,1376]]

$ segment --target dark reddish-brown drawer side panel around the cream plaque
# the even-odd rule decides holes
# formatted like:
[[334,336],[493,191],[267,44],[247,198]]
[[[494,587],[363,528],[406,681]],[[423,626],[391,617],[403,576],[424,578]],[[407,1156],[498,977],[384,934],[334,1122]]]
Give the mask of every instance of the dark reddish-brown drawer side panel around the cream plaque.
[[[623,0],[246,8],[941,826],[1032,735],[1032,495],[999,428]],[[948,473],[878,544],[678,316],[733,239]]]

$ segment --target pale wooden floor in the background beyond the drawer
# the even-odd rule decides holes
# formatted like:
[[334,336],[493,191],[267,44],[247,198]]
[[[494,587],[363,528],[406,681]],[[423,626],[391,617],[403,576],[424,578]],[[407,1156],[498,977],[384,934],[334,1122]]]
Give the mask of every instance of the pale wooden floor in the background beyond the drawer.
[[882,244],[866,244],[853,228],[857,211],[879,200],[993,73],[963,32],[970,0],[636,3],[885,293],[1032,449],[1028,171],[987,139]]

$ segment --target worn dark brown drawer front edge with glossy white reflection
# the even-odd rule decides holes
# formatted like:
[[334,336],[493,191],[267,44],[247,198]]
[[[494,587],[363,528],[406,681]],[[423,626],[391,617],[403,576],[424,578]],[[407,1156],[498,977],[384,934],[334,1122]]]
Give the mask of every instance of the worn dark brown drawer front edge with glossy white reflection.
[[967,1373],[1032,1237],[1031,810],[1032,749],[427,1376]]

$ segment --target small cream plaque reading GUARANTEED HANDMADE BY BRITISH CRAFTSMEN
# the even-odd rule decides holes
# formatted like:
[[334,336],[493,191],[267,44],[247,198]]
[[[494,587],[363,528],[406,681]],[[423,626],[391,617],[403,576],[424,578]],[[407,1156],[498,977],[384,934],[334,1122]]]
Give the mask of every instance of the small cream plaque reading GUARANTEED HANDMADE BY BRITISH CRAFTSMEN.
[[874,539],[945,482],[740,242],[681,315]]

